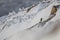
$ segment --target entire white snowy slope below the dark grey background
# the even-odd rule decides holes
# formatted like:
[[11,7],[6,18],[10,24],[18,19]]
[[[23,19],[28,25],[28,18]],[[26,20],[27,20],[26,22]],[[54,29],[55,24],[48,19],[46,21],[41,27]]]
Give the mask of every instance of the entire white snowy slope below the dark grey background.
[[32,8],[19,9],[18,13],[13,11],[1,17],[0,40],[60,40],[60,8],[49,19],[55,3],[60,6],[54,1],[41,2]]

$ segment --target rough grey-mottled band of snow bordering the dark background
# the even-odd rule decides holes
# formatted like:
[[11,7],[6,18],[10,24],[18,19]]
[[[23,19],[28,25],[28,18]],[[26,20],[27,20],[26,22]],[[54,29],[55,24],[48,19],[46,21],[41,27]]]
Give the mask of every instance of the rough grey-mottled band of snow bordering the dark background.
[[[52,2],[51,2],[52,3]],[[36,15],[39,15],[40,13],[38,13],[38,11],[40,11],[41,9],[43,9],[43,8],[46,8],[49,4],[51,4],[51,3],[40,3],[40,4],[38,4],[36,7],[34,7],[34,8],[32,8],[28,13],[26,13],[26,11],[21,11],[21,12],[19,12],[18,14],[15,14],[14,12],[13,12],[13,14],[15,14],[15,15],[13,15],[12,16],[12,13],[10,13],[10,15],[8,15],[8,18],[7,18],[7,21],[3,24],[3,25],[1,25],[2,27],[3,26],[11,26],[12,24],[14,25],[17,25],[17,24],[22,24],[23,22],[25,23],[26,21],[27,22],[29,22],[29,21],[32,21],[32,19],[34,19],[35,20],[35,16]],[[46,5],[45,5],[46,4]],[[42,7],[42,6],[44,6],[44,7]],[[47,9],[46,9],[47,10]],[[31,12],[32,11],[32,12]],[[49,10],[50,11],[50,10]],[[43,12],[43,11],[42,11]],[[42,13],[41,12],[41,13]],[[24,14],[26,13],[26,15],[24,16]],[[21,15],[22,14],[22,15]],[[10,16],[10,17],[9,17]],[[47,16],[46,16],[47,17]],[[36,19],[36,20],[38,20],[38,19]],[[39,18],[39,20],[40,20],[40,18]],[[31,23],[33,23],[33,22],[31,22]],[[30,24],[31,24],[30,23]],[[34,24],[34,23],[33,23]],[[12,25],[12,26],[13,26]],[[27,28],[27,27],[26,27]],[[23,27],[23,29],[24,29],[24,27]]]

